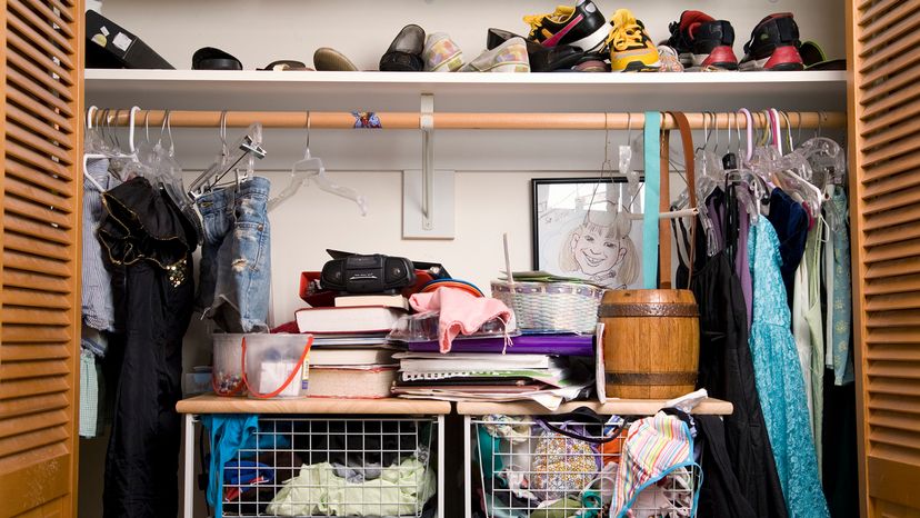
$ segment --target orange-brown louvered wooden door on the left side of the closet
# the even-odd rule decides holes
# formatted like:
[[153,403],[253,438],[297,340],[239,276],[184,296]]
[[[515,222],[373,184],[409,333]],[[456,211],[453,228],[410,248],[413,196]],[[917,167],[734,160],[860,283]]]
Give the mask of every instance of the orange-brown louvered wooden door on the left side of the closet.
[[79,0],[0,4],[0,517],[72,517],[83,8]]

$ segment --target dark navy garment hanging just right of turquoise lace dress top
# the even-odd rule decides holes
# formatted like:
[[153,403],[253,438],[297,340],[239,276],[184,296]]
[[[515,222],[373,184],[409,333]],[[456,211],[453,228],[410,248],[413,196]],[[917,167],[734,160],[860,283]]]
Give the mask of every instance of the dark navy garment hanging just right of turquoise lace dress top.
[[773,189],[770,193],[770,213],[767,219],[773,223],[777,238],[780,241],[780,273],[786,285],[786,302],[792,309],[792,286],[796,280],[796,270],[802,262],[804,243],[808,239],[809,222],[804,207],[789,197],[781,189]]

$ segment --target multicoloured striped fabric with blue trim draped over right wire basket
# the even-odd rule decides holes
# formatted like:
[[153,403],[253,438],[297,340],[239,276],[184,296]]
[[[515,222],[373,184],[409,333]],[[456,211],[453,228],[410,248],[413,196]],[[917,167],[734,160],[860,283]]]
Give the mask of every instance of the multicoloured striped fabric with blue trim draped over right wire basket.
[[[682,420],[658,412],[629,427],[617,478],[610,517],[622,518],[643,489],[670,472],[693,466],[690,428]],[[699,492],[693,494],[696,508]]]

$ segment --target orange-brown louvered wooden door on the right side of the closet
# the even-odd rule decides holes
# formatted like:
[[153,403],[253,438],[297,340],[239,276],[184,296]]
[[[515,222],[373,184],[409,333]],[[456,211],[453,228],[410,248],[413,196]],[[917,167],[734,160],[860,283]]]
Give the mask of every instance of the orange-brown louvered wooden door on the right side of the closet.
[[864,516],[920,516],[920,0],[849,0]]

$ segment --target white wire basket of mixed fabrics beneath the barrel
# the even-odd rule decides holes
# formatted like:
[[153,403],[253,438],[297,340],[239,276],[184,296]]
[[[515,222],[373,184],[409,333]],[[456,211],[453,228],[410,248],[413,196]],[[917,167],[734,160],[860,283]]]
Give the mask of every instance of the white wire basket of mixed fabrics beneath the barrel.
[[[578,430],[589,440],[548,430]],[[607,442],[598,422],[552,418],[508,419],[484,416],[470,420],[473,465],[472,498],[489,518],[607,518],[614,498],[617,470],[626,431]],[[627,424],[624,429],[628,428]],[[478,472],[477,472],[478,471]],[[701,484],[698,466],[671,471],[638,494],[634,518],[693,516]]]

